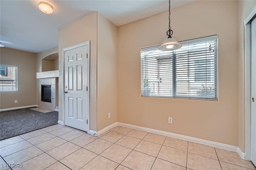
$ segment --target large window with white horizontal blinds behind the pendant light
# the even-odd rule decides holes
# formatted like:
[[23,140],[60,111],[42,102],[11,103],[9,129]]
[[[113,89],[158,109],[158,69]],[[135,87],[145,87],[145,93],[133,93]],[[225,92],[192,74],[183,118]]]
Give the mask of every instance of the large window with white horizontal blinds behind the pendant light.
[[142,96],[216,100],[217,37],[181,41],[174,51],[142,48]]

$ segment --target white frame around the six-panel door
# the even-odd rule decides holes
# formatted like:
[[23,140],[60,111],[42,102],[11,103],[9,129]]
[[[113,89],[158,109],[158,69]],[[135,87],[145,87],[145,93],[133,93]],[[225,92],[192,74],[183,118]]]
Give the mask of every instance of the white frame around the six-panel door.
[[[65,47],[62,49],[62,89],[65,89],[65,51],[70,50],[70,49],[75,49],[78,47],[82,47],[87,45],[87,53],[88,53],[88,62],[87,62],[87,77],[88,77],[88,132],[90,131],[90,41],[86,41],[83,43],[79,43],[76,45],[72,45],[69,47]],[[63,125],[65,125],[65,96],[63,95],[62,97],[62,122]]]

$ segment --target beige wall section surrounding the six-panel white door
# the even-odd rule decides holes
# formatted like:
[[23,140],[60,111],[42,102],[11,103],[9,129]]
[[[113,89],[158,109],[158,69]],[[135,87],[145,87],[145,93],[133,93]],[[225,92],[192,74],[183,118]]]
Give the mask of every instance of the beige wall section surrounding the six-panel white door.
[[63,60],[62,49],[90,41],[90,129],[97,130],[97,12],[59,29],[59,120],[62,121]]

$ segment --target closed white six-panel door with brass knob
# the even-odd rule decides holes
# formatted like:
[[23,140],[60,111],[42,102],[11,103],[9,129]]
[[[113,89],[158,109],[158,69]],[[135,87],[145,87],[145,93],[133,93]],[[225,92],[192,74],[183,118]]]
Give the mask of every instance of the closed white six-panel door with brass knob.
[[88,45],[65,51],[65,125],[88,131]]

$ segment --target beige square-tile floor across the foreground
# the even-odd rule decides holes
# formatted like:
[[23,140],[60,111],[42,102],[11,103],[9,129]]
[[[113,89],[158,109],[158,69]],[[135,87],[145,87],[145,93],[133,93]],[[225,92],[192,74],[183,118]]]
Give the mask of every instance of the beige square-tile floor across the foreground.
[[0,141],[0,155],[0,170],[256,170],[236,152],[126,127],[95,137],[53,125]]

